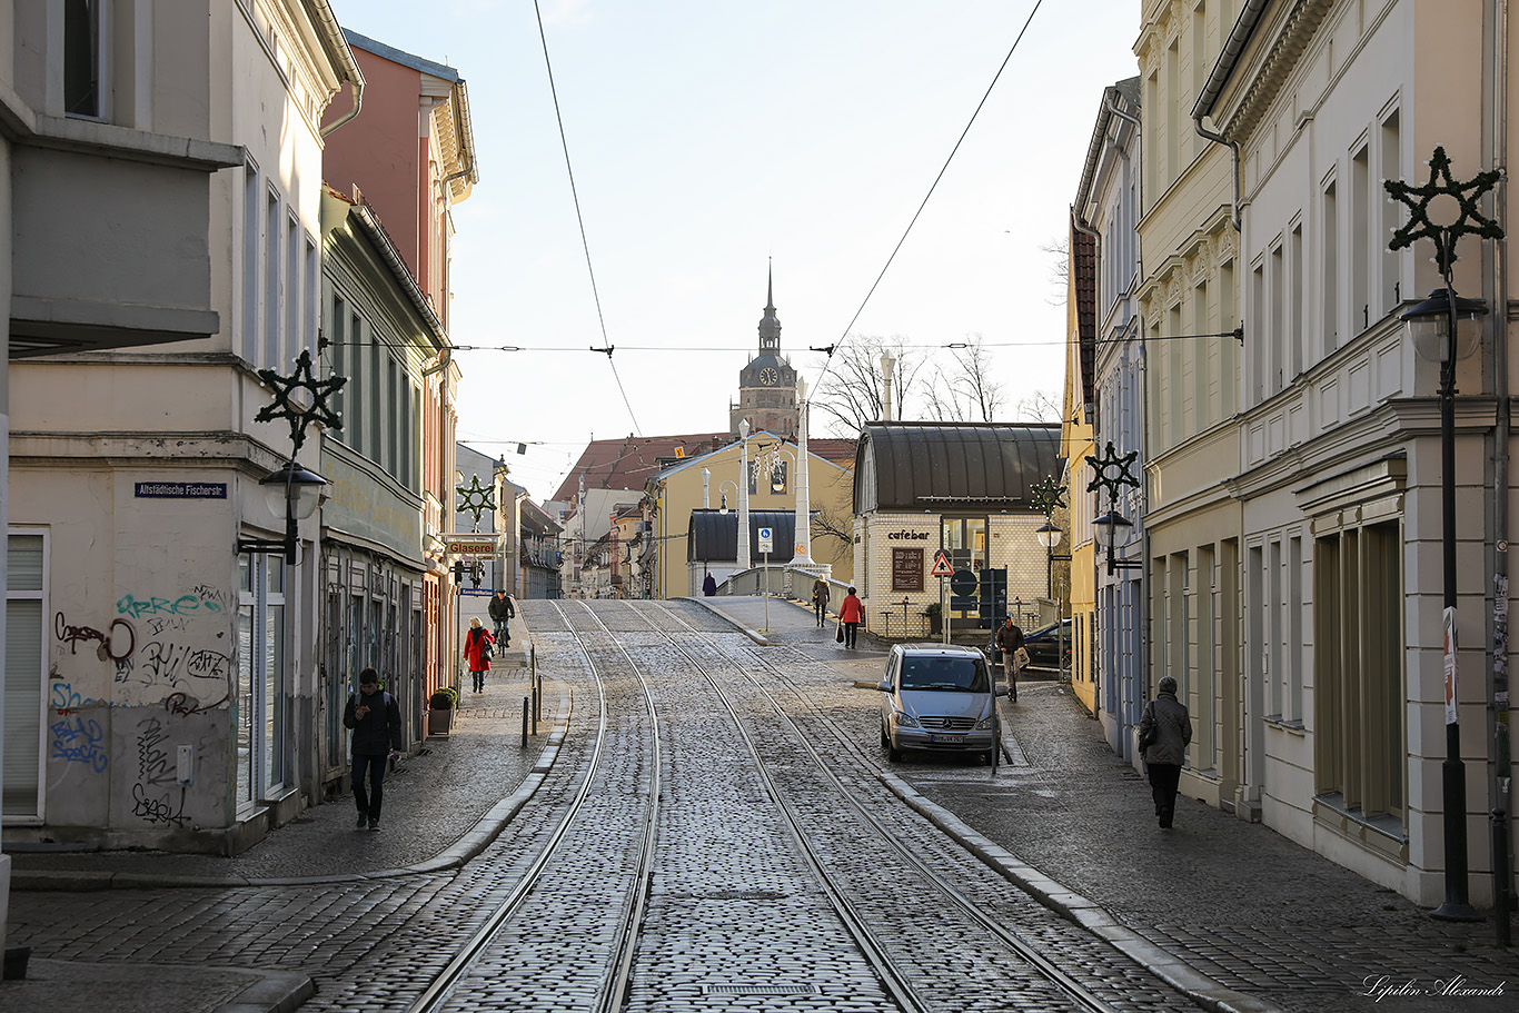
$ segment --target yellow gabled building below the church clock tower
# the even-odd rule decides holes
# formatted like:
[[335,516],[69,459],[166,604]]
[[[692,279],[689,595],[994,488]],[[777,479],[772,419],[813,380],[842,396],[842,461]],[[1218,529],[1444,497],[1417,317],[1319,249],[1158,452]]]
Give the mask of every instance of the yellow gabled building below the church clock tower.
[[[796,443],[767,431],[749,436],[749,510],[796,510]],[[743,474],[743,443],[735,440],[700,457],[673,462],[649,480],[649,495],[655,501],[650,530],[655,541],[653,588],[656,598],[679,598],[702,594],[703,568],[690,560],[687,530],[691,513],[702,509],[738,512],[740,475]],[[811,556],[817,563],[832,566],[834,580],[848,582],[854,576],[852,495],[854,471],[845,465],[807,454],[808,506],[813,512]],[[755,542],[750,539],[750,547]],[[791,547],[778,547],[772,562],[791,557]],[[784,551],[784,554],[782,554]],[[750,550],[752,565],[760,565],[756,550]],[[737,566],[714,568],[722,582]]]

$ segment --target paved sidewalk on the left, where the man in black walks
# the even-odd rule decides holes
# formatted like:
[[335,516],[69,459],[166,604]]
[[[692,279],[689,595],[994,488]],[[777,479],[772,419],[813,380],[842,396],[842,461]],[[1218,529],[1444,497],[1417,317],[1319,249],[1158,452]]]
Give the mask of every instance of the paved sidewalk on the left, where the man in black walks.
[[[524,630],[526,633],[526,630]],[[386,776],[378,831],[354,829],[352,794],[313,806],[234,858],[166,852],[14,854],[12,893],[363,882],[456,869],[527,802],[554,759],[570,712],[564,683],[544,679],[538,735],[523,746],[530,697],[526,635],[485,693],[465,691],[453,734]],[[12,898],[14,899],[14,898]],[[15,945],[17,940],[11,940]],[[0,981],[9,1013],[287,1013],[310,998],[302,974],[166,963],[85,963],[33,952],[21,981]]]

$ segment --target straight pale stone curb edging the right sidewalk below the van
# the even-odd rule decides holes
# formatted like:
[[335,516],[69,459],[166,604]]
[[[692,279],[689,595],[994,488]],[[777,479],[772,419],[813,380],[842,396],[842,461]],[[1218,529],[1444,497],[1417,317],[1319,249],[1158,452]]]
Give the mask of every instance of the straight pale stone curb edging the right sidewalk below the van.
[[1274,1002],[1235,992],[1214,981],[1183,958],[1121,925],[1100,904],[1086,899],[1033,866],[1019,861],[1012,852],[977,834],[954,813],[930,802],[896,775],[880,770],[875,776],[892,794],[980,858],[992,872],[996,872],[1060,917],[1103,939],[1113,949],[1127,955],[1203,1008],[1214,1010],[1215,1013],[1284,1013],[1282,1007]]

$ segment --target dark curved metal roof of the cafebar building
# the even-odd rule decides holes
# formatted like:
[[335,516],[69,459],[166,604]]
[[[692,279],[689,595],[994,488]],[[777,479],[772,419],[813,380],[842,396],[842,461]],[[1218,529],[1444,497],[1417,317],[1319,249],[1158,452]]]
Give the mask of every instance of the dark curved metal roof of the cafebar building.
[[1033,509],[1033,484],[1062,471],[1057,422],[870,422],[855,451],[855,513]]

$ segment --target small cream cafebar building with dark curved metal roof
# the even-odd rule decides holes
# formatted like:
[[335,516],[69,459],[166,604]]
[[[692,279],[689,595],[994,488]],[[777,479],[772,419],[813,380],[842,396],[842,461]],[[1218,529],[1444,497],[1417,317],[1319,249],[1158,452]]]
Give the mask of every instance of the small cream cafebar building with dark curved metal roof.
[[[930,636],[928,606],[940,600],[955,632],[990,633],[1007,609],[1024,629],[1037,624],[1037,603],[1051,588],[1048,550],[1037,538],[1045,515],[1033,494],[1062,469],[1056,424],[867,424],[854,474],[855,586],[866,627],[890,638]],[[952,576],[933,574],[940,550]]]

